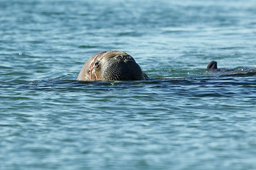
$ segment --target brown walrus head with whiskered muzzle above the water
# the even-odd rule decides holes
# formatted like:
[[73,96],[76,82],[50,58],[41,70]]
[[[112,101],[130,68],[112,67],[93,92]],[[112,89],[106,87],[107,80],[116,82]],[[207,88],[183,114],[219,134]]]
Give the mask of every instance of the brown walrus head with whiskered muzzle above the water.
[[77,80],[148,80],[148,76],[141,71],[131,55],[120,51],[106,51],[90,57],[84,63]]

